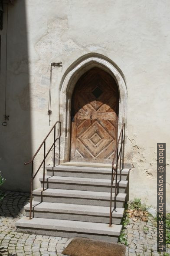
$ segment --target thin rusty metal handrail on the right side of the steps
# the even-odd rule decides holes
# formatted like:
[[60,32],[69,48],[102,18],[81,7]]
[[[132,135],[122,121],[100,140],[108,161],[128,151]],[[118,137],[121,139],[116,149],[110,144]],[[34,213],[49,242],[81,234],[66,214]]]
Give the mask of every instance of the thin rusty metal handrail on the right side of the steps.
[[[125,124],[122,125],[121,132],[120,132],[120,135],[119,135],[119,138],[118,138],[118,141],[116,144],[116,148],[114,151],[113,161],[111,164],[111,197],[110,197],[110,218],[109,218],[109,226],[110,227],[112,225],[112,210],[111,210],[111,208],[112,208],[113,182],[114,182],[114,176],[116,175],[115,193],[114,194],[117,195],[118,161],[119,161],[119,157],[122,156],[122,145],[124,142],[124,139],[123,139],[124,128],[125,128]],[[120,139],[121,139],[121,148],[119,150]],[[115,160],[116,160],[116,166],[114,166]],[[120,169],[121,169],[121,157],[120,157]],[[114,173],[113,173],[113,171],[114,171]],[[114,200],[114,203],[115,203],[115,200]]]

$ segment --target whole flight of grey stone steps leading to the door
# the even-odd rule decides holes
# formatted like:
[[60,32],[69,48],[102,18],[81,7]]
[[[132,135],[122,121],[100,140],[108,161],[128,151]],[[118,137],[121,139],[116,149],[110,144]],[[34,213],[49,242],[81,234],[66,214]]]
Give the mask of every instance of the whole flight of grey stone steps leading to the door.
[[[112,195],[109,227],[111,168],[58,165],[46,167],[45,190],[33,191],[32,216],[16,222],[17,230],[61,237],[88,237],[118,242],[124,213],[129,169],[118,171],[118,194]],[[115,181],[114,184],[115,186]],[[113,188],[114,191],[114,188]],[[114,204],[115,202],[115,204]]]

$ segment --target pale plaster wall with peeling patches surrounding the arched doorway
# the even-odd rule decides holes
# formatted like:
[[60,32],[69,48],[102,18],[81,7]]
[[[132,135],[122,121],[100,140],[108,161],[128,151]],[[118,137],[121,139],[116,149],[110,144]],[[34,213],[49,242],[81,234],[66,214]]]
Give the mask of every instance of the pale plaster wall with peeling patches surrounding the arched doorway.
[[[19,13],[22,1],[16,1],[10,12]],[[170,210],[169,0],[27,0],[25,3],[28,62],[24,61],[24,56],[20,58],[17,74],[11,74],[12,63],[9,61],[8,74],[14,77],[13,81],[16,83],[16,76],[23,72],[25,65],[29,67],[32,154],[49,131],[47,110],[50,63],[63,63],[62,68],[56,67],[52,71],[52,125],[59,118],[59,84],[65,71],[84,54],[103,54],[118,65],[126,79],[125,154],[127,162],[133,165],[130,172],[129,198],[146,199],[148,204],[156,206],[156,146],[157,142],[166,142],[167,209]],[[10,23],[11,26],[15,24],[16,30],[22,29],[17,20],[10,19]],[[9,37],[15,37],[14,30],[10,31]],[[12,42],[9,47],[12,47]],[[13,61],[17,56],[14,51]],[[3,59],[2,56],[2,67]],[[13,86],[14,84],[9,84],[8,87],[9,99],[12,94],[15,97]],[[17,101],[15,99],[12,104]],[[9,110],[8,115],[12,118],[13,113]],[[13,131],[17,130],[16,123],[15,119]],[[10,145],[13,147],[13,141],[11,143],[7,139],[7,132],[4,136],[7,141],[5,150],[8,150]],[[23,175],[23,169],[16,170],[15,167],[16,162],[21,159],[18,156],[14,158],[10,163],[13,174]],[[7,168],[5,166],[6,163],[3,162],[3,170],[8,178],[11,175],[10,165]],[[29,189],[28,184],[23,186],[19,182],[16,186],[15,183],[8,183],[7,179],[6,187],[9,189],[9,186],[11,189]],[[36,180],[35,187],[38,186]]]

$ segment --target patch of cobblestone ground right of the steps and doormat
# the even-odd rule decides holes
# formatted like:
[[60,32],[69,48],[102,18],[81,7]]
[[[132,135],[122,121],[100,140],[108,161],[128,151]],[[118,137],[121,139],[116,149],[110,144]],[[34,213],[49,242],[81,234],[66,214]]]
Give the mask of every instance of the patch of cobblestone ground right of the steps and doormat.
[[[141,220],[134,222],[129,218],[129,224],[125,226],[124,233],[128,245],[126,256],[163,255],[163,253],[157,252],[157,228],[154,226],[152,216],[148,217],[148,222]],[[166,253],[166,256],[170,255],[170,247],[167,248]]]

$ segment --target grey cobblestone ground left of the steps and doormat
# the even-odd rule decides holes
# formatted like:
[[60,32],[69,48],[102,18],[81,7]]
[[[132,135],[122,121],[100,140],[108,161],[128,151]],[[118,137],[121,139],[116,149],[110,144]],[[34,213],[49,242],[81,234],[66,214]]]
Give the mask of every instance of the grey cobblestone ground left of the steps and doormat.
[[15,222],[24,216],[23,206],[29,202],[29,194],[5,194],[0,201],[0,256],[63,256],[63,249],[72,239],[16,232]]

